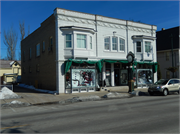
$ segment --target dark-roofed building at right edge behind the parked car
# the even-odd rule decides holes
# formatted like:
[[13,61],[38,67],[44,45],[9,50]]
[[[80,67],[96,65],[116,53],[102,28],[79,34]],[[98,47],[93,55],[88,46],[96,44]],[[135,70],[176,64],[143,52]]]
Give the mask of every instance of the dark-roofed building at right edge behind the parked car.
[[[163,28],[161,31],[157,31],[156,37],[157,37],[156,40],[157,61],[160,65],[162,78],[165,79],[165,78],[173,77],[173,74],[166,69],[172,66],[178,68],[178,70],[174,73],[174,77],[180,78],[179,26],[166,30]],[[172,55],[172,50],[173,50],[173,55]]]

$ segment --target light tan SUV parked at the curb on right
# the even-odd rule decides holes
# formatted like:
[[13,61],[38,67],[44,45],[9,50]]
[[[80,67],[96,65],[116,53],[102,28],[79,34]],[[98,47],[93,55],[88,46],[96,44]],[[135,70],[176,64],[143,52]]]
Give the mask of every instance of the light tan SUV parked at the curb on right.
[[150,95],[154,93],[162,93],[164,96],[169,92],[178,92],[180,90],[180,79],[160,79],[154,84],[149,85],[148,92]]

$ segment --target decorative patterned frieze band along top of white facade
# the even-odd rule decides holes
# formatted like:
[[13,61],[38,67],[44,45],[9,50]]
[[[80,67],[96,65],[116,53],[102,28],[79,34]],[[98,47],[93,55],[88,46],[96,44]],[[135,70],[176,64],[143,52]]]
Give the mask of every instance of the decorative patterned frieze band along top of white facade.
[[[82,18],[67,17],[64,15],[58,15],[58,20],[71,21],[71,22],[90,24],[90,25],[96,24],[95,20],[93,21],[93,20],[82,19]],[[156,33],[155,30],[151,30],[151,29],[144,29],[144,28],[138,28],[138,27],[132,27],[132,26],[124,26],[124,25],[118,25],[118,24],[102,22],[102,21],[97,21],[97,25],[102,26],[102,27],[118,28],[118,29],[124,29],[124,30],[128,29],[130,31],[142,32],[142,33],[153,33],[153,34]]]

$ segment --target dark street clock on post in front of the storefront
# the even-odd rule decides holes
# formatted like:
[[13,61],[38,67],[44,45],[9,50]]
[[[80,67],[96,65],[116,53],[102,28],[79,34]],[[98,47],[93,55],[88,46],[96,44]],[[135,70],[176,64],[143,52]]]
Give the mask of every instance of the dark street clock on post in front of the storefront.
[[129,91],[128,92],[132,92],[134,91],[134,80],[133,80],[133,71],[132,71],[132,66],[133,66],[133,62],[134,62],[134,54],[130,51],[128,53],[128,55],[126,56],[127,61],[129,63],[129,67],[128,67],[128,85],[129,85]]

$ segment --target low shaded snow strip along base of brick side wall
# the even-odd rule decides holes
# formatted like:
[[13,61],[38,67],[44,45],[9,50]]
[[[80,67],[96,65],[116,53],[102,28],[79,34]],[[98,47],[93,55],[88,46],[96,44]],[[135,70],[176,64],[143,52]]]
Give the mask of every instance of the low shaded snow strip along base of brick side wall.
[[27,89],[31,89],[31,90],[35,90],[38,92],[43,92],[43,93],[49,93],[49,94],[55,94],[57,93],[57,91],[49,91],[49,90],[45,90],[45,89],[37,89],[32,85],[26,85],[26,84],[19,84],[18,86],[23,87],[23,88],[27,88]]

